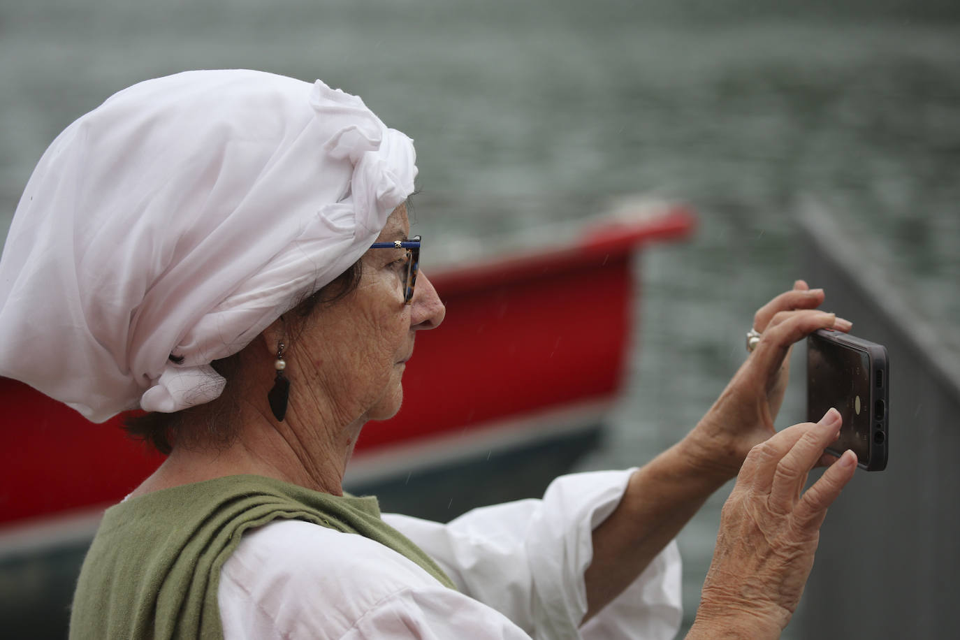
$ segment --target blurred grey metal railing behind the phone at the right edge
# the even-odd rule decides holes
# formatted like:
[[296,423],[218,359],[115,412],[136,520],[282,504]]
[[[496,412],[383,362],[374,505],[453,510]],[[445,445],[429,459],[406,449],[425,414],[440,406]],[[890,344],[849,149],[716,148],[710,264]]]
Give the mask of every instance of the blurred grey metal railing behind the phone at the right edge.
[[[886,470],[857,471],[829,510],[804,603],[802,638],[938,638],[956,633],[960,602],[960,357],[950,323],[920,317],[876,260],[824,211],[806,206],[804,273],[828,291],[853,333],[890,362]],[[958,285],[960,292],[960,285]],[[960,295],[960,294],[958,294]]]

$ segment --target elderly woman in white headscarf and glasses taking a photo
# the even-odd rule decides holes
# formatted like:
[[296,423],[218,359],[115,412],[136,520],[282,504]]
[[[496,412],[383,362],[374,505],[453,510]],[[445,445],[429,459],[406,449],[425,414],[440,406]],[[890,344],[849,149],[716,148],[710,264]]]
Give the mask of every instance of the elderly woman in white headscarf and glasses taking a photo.
[[140,83],[41,158],[0,263],[0,374],[169,453],[107,510],[74,638],[669,638],[671,542],[739,473],[690,638],[775,638],[845,454],[839,415],[774,432],[790,345],[849,322],[798,281],[703,420],[640,469],[449,525],[344,494],[368,420],[444,320],[405,201],[412,142],[324,83]]

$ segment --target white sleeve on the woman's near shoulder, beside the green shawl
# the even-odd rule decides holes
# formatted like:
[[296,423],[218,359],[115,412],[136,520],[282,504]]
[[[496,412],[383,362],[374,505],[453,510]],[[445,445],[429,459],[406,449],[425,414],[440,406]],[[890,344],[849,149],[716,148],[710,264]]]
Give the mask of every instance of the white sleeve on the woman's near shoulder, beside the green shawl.
[[298,520],[245,533],[217,597],[225,640],[530,640],[393,550]]

